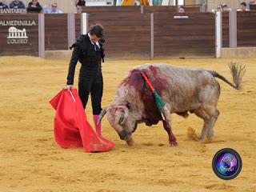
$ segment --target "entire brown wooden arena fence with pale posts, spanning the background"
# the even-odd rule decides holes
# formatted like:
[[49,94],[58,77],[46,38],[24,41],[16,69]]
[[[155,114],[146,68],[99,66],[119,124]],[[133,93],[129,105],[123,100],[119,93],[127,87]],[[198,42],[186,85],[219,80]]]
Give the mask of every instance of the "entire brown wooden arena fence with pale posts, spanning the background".
[[97,22],[105,26],[106,55],[113,58],[219,57],[222,46],[256,46],[255,12],[178,14],[126,6],[96,14],[90,9],[90,14],[0,14],[0,55],[44,58],[46,50],[68,50]]

